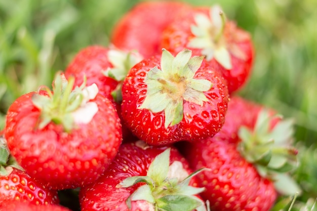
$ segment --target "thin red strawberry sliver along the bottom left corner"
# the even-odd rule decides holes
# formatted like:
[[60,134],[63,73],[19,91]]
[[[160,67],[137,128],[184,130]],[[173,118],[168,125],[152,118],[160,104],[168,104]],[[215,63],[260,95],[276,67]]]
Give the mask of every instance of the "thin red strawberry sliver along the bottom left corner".
[[70,209],[57,205],[35,205],[27,202],[8,201],[0,205],[0,211],[70,211]]

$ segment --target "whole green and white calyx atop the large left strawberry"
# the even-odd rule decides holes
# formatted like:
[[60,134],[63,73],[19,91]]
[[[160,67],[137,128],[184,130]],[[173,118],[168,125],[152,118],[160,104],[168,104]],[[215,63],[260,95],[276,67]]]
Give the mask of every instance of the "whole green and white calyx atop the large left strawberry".
[[76,123],[88,123],[97,113],[96,103],[88,102],[98,93],[95,84],[73,89],[74,78],[68,80],[58,72],[53,83],[53,92],[46,88],[47,96],[38,93],[32,96],[35,107],[41,110],[38,129],[43,129],[50,122],[62,124],[66,132],[75,128]]

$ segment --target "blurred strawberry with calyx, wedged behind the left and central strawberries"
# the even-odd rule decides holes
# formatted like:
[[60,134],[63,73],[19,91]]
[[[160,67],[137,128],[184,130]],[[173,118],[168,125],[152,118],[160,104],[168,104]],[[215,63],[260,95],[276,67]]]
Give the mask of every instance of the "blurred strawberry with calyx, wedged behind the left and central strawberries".
[[[130,68],[142,60],[137,52],[119,50],[113,46],[88,46],[78,52],[65,69],[65,77],[74,77],[74,86],[95,83],[99,93],[111,100],[121,117],[121,87]],[[123,125],[123,136],[131,132]]]

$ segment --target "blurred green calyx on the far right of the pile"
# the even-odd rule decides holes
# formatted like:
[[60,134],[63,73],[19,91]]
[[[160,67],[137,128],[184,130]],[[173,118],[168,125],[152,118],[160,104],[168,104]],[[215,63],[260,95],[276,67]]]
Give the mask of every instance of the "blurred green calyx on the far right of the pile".
[[287,174],[297,167],[297,149],[291,145],[294,122],[282,119],[270,130],[270,121],[276,117],[263,109],[253,131],[242,126],[238,150],[262,177],[273,180],[276,190],[286,195],[295,194],[300,188]]

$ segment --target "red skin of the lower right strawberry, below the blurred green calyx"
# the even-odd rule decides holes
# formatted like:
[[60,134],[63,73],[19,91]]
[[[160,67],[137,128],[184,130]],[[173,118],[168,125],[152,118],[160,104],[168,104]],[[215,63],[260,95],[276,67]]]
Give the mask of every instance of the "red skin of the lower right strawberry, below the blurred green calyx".
[[212,210],[267,211],[274,204],[277,193],[273,183],[241,157],[236,144],[208,138],[188,147],[186,158],[193,169],[210,168],[197,180],[206,188],[201,196],[210,201]]

